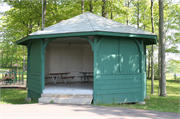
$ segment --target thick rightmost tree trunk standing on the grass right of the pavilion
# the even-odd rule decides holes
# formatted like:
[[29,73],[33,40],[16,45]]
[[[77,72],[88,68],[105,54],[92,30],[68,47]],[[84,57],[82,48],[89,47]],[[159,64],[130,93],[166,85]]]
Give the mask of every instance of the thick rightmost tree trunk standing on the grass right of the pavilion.
[[159,40],[161,41],[161,88],[160,88],[160,96],[165,97],[167,94],[166,94],[166,61],[165,61],[163,0],[159,0]]

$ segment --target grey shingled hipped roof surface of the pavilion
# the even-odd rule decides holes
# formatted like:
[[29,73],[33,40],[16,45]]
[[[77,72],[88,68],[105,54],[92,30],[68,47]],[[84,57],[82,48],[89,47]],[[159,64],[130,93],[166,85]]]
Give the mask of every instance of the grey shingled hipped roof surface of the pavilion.
[[40,30],[30,35],[63,34],[94,31],[155,35],[150,32],[92,14],[90,12],[75,16],[55,25],[49,26],[43,31]]

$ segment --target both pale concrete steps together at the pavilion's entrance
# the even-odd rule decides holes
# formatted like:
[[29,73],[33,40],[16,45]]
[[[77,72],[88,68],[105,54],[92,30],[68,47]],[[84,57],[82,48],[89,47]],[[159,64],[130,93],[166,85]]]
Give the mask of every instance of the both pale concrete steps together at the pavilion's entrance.
[[39,103],[91,104],[92,94],[41,94]]

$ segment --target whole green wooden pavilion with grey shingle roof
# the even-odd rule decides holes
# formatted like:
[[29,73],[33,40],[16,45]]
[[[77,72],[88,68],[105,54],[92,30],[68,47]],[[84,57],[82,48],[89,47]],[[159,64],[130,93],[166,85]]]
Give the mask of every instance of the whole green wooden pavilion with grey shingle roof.
[[[157,36],[86,12],[16,43],[28,49],[29,98],[81,95],[82,101],[87,93],[92,95],[90,102],[83,104],[110,104],[145,99],[146,45],[156,44]],[[53,78],[53,73],[67,75]],[[71,98],[71,103],[78,104],[77,98]]]

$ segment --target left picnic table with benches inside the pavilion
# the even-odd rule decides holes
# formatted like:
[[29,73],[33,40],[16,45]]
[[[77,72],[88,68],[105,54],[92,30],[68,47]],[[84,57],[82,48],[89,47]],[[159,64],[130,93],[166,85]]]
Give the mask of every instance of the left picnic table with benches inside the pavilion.
[[[67,74],[70,74],[70,72],[64,72],[64,73],[49,73],[49,75],[51,75],[51,77],[52,77],[53,82],[54,82],[55,85],[57,84],[56,81],[57,81],[58,77],[63,80],[64,85],[66,85],[66,79],[67,79],[67,78],[71,78],[71,79],[73,80],[73,83],[74,83],[74,77],[75,77],[75,76],[67,76]],[[65,75],[65,76],[64,76],[64,75]],[[49,78],[49,77],[45,77],[45,78]],[[62,85],[62,84],[61,84],[61,85]]]

